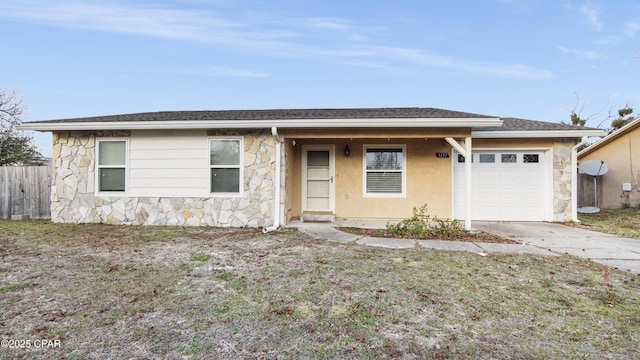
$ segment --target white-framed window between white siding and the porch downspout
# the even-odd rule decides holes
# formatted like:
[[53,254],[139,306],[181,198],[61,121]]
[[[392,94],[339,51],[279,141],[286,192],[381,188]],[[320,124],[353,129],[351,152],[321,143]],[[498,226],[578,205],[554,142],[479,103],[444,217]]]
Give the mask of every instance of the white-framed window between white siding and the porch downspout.
[[211,139],[211,192],[240,194],[242,140]]

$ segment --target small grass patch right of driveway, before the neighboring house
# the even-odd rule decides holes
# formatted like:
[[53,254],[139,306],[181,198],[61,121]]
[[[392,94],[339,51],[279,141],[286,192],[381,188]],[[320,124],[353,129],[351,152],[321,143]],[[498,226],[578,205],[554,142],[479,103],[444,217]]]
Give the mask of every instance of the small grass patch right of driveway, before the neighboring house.
[[602,209],[596,214],[578,214],[578,226],[608,234],[640,239],[640,209]]

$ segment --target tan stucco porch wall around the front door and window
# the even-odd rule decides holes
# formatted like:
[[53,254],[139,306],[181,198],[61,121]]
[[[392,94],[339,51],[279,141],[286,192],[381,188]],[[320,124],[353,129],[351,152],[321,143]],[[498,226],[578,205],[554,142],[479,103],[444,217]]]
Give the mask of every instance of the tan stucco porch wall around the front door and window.
[[[429,213],[452,216],[452,161],[437,158],[436,152],[451,155],[451,146],[442,138],[422,139],[298,139],[287,142],[288,219],[302,214],[302,148],[306,145],[335,145],[335,215],[347,219],[398,220],[411,216],[414,207],[428,204]],[[351,155],[344,156],[349,145]],[[406,196],[365,197],[363,191],[364,145],[406,146]]]

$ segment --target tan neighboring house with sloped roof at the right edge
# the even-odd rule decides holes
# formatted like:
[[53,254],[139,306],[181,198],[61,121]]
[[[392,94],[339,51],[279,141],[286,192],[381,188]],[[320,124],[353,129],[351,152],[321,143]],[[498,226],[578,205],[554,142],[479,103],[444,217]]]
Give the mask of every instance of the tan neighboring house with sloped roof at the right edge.
[[[598,182],[599,207],[640,205],[640,118],[580,151],[578,160],[604,160],[609,168]],[[629,191],[622,190],[625,183],[629,184]]]

